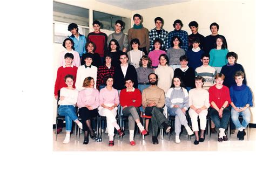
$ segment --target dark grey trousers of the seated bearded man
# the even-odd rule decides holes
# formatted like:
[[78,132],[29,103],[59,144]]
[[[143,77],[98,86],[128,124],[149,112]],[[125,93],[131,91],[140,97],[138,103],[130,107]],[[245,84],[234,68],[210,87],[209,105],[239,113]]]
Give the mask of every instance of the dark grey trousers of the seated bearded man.
[[152,122],[152,135],[157,136],[158,128],[163,128],[163,123],[168,123],[168,120],[163,114],[164,109],[159,107],[146,107],[145,114],[151,117]]

